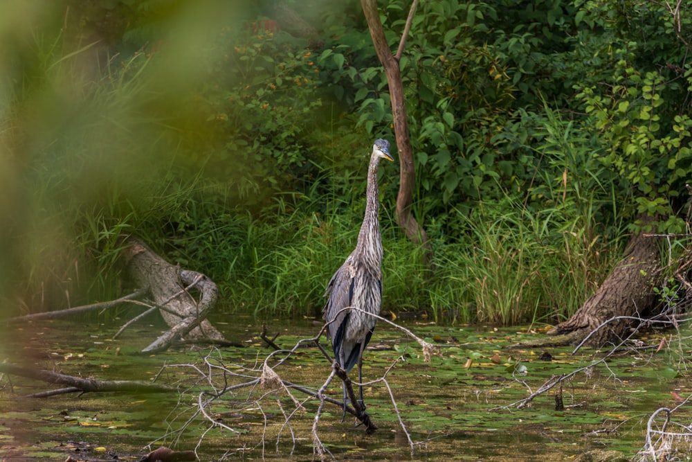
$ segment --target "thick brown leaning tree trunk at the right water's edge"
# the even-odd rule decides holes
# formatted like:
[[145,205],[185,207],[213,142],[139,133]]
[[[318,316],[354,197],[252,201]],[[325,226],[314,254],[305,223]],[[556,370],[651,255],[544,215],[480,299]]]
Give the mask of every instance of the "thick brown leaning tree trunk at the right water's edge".
[[[652,220],[646,216],[640,219],[645,224]],[[626,337],[634,320],[614,319],[601,325],[614,317],[641,318],[650,312],[657,301],[653,287],[658,282],[659,269],[661,262],[656,240],[642,233],[632,235],[625,256],[597,292],[570,319],[547,332],[548,335],[568,334],[572,343],[579,343],[591,335],[588,340],[591,346],[618,344]]]

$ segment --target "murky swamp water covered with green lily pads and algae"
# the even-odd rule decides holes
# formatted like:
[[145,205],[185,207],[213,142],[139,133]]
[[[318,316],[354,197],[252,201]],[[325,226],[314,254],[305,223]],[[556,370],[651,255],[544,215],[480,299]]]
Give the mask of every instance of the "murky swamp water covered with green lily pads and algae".
[[[0,343],[6,362],[97,380],[156,380],[179,393],[22,398],[62,385],[0,375],[0,461],[62,462],[68,456],[138,461],[159,445],[196,450],[200,461],[301,461],[319,459],[315,435],[325,457],[337,460],[573,461],[594,450],[617,451],[620,460],[628,460],[644,447],[651,414],[675,407],[692,393],[689,346],[658,348],[663,337],[675,332],[650,332],[639,337],[641,346],[650,348],[623,350],[575,374],[563,383],[565,409],[557,411],[560,387],[527,407],[511,405],[551,377],[592,364],[607,349],[583,348],[572,355],[567,347],[513,348],[543,337],[544,331],[408,321],[406,328],[439,347],[425,362],[415,340],[380,322],[364,355],[363,381],[386,380],[364,389],[367,412],[379,427],[367,435],[350,415],[342,423],[341,409],[329,402],[316,422],[319,400],[296,389],[274,390],[271,383],[242,386],[260,377],[272,348],[259,337],[260,322],[233,318],[233,324],[223,317],[212,322],[245,348],[179,346],[155,355],[139,353],[164,328],[154,318],[118,339],[111,338],[120,327],[116,324],[42,321],[15,328]],[[266,325],[270,337],[278,334],[275,344],[286,350],[321,327],[286,320]],[[293,355],[277,353],[268,364],[282,380],[312,390],[331,373],[320,350],[310,344]],[[212,387],[229,388],[208,403],[207,417],[196,416],[204,402],[200,391]],[[327,393],[340,400],[340,380],[334,379]],[[689,407],[675,411],[673,420],[689,425]],[[609,454],[603,460],[619,460]],[[684,453],[677,457],[689,460]]]

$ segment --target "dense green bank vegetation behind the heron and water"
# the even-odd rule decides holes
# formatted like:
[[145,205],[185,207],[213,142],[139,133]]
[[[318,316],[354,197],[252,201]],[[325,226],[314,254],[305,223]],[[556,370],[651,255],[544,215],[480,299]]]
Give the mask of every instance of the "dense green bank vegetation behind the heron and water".
[[[8,314],[114,298],[123,234],[210,276],[225,310],[320,314],[363,220],[372,141],[396,157],[385,75],[357,2],[286,1],[316,37],[227,3],[26,1],[0,23]],[[380,5],[392,48],[409,6]],[[383,310],[553,323],[640,213],[688,231],[691,13],[422,1],[401,70],[435,272],[394,220],[399,170],[383,165]]]

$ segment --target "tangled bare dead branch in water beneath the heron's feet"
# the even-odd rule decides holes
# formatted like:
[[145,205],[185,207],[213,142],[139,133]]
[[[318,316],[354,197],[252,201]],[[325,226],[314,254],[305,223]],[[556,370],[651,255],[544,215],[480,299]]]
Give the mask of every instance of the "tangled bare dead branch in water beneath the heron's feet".
[[[415,339],[417,343],[421,345],[426,360],[430,360],[430,356],[435,350],[434,346],[420,339],[410,330],[398,326],[388,319],[383,319],[379,316],[376,316],[376,318],[394,326],[394,328],[406,332],[408,336]],[[281,348],[280,344],[277,344],[275,341],[277,337],[274,337],[271,339],[271,343],[274,344],[272,346],[274,350],[268,353],[263,359],[258,359],[255,366],[250,368],[244,364],[227,364],[221,356],[221,350],[212,350],[212,352],[208,353],[208,355],[203,358],[201,364],[167,364],[163,366],[162,371],[167,368],[189,368],[194,375],[197,376],[197,379],[193,380],[194,385],[188,387],[187,391],[183,390],[181,396],[191,392],[193,387],[201,387],[201,390],[197,389],[192,391],[196,396],[194,401],[197,403],[192,409],[185,407],[185,409],[176,411],[177,414],[174,420],[178,420],[179,425],[175,425],[176,428],[174,428],[174,425],[170,425],[170,431],[161,436],[161,438],[158,438],[155,442],[152,442],[152,444],[165,443],[170,438],[176,438],[176,435],[183,434],[183,432],[192,425],[199,427],[200,421],[208,425],[208,428],[202,431],[203,434],[206,434],[206,432],[214,428],[224,429],[231,433],[239,433],[244,430],[234,428],[224,416],[229,412],[233,412],[233,414],[255,412],[260,413],[262,416],[261,418],[264,420],[261,438],[262,454],[264,454],[264,441],[266,434],[271,429],[271,420],[268,420],[266,414],[268,413],[268,407],[273,406],[276,410],[271,414],[280,415],[284,418],[284,422],[280,425],[280,428],[277,430],[278,434],[275,437],[277,448],[282,438],[285,438],[286,429],[289,430],[289,438],[291,438],[293,446],[295,447],[300,435],[295,434],[295,429],[291,425],[291,420],[295,418],[295,416],[312,411],[315,414],[313,416],[310,438],[313,443],[315,458],[321,460],[329,459],[332,456],[322,443],[319,432],[320,422],[325,407],[327,405],[333,405],[338,409],[339,414],[340,411],[346,409],[347,414],[356,418],[358,425],[363,425],[365,434],[372,434],[372,432],[377,429],[377,425],[374,423],[372,416],[365,411],[365,407],[362,406],[358,398],[356,398],[354,384],[364,387],[372,387],[379,384],[388,390],[392,409],[397,415],[399,426],[403,429],[403,433],[406,434],[406,438],[408,438],[413,454],[416,445],[421,443],[413,441],[410,432],[408,432],[405,418],[401,415],[396,398],[387,379],[388,374],[392,371],[394,366],[401,361],[401,358],[394,359],[392,364],[385,369],[381,377],[377,377],[370,382],[363,382],[362,384],[354,382],[350,379],[346,371],[340,368],[338,364],[331,359],[327,350],[320,344],[320,337],[326,327],[327,325],[322,326],[318,335],[315,337],[300,339],[295,342],[291,348]],[[264,337],[268,340],[269,338],[266,335],[267,330],[266,326],[262,328]],[[269,344],[269,342],[267,343]],[[293,364],[287,363],[287,361],[291,358],[295,361],[295,354],[298,353],[298,350],[304,350],[306,346],[308,348],[317,346],[321,352],[320,354],[331,364],[329,375],[319,387],[308,387],[302,384],[295,384],[282,377],[282,366],[285,364]],[[343,382],[347,389],[349,402],[347,402],[345,408],[345,403],[342,400],[327,396],[327,389],[330,384],[333,384],[335,377],[338,377],[339,381]],[[302,397],[298,397],[298,394],[302,395]],[[190,401],[185,400],[185,402]],[[271,402],[273,402],[273,405]],[[311,404],[314,406],[311,407]],[[183,408],[183,405],[181,404],[179,407]],[[233,411],[229,411],[229,407],[233,409]],[[199,443],[201,444],[201,438]]]

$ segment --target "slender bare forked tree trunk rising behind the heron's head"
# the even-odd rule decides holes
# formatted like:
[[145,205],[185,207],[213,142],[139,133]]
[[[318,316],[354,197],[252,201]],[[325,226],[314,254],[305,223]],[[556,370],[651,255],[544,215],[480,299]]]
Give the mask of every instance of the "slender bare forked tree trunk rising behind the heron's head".
[[410,135],[408,132],[408,120],[406,118],[406,100],[403,97],[403,84],[401,82],[401,69],[399,60],[403,53],[403,45],[406,43],[406,36],[410,29],[410,23],[415,12],[418,0],[414,0],[406,21],[406,28],[401,35],[401,42],[397,56],[392,55],[385,32],[377,11],[376,0],[361,0],[363,13],[370,28],[370,35],[375,46],[377,56],[382,63],[387,83],[390,90],[390,100],[392,102],[392,116],[394,117],[394,134],[397,137],[397,148],[399,148],[399,165],[401,166],[399,195],[397,196],[397,211],[395,217],[399,226],[403,228],[406,236],[416,244],[420,245],[424,251],[424,263],[430,271],[434,271],[435,265],[432,261],[432,246],[428,241],[428,235],[423,226],[416,221],[411,213],[411,202],[413,200],[413,189],[416,181],[415,164],[413,163],[413,150],[411,148]]

